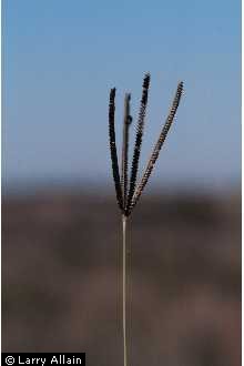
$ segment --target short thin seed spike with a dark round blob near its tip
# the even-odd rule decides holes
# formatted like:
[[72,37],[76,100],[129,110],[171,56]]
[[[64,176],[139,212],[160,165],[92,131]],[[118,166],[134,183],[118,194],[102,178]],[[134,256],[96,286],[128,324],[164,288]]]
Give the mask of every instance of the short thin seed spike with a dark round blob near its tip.
[[122,143],[122,165],[121,165],[121,187],[123,193],[123,207],[126,207],[128,197],[128,155],[129,155],[129,130],[132,122],[130,115],[131,94],[124,96],[124,121],[123,121],[123,143]]

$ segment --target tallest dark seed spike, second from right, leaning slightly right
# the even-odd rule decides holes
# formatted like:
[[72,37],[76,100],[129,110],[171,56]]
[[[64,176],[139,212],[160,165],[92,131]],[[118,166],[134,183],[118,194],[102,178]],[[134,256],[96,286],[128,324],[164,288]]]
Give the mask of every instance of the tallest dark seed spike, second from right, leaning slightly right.
[[146,73],[143,80],[142,85],[142,99],[141,99],[141,106],[139,112],[139,120],[138,120],[138,128],[136,128],[136,136],[134,143],[134,152],[133,152],[133,160],[131,166],[131,179],[130,179],[130,190],[128,194],[128,203],[125,214],[129,215],[130,207],[132,203],[132,197],[134,195],[135,184],[136,184],[136,176],[139,170],[139,159],[141,153],[141,144],[142,144],[142,136],[144,130],[144,120],[145,120],[145,111],[149,98],[149,87],[150,87],[150,73]]

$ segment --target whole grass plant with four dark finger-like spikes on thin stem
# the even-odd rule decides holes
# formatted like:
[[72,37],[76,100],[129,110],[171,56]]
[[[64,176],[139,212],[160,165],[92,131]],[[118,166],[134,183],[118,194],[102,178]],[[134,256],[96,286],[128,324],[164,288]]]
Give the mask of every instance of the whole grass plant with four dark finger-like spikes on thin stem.
[[144,123],[145,123],[145,113],[146,105],[149,99],[149,89],[150,89],[150,73],[145,73],[142,85],[142,98],[138,116],[136,124],[136,133],[135,133],[135,142],[133,149],[133,157],[130,171],[130,180],[129,180],[129,145],[130,145],[130,126],[132,123],[132,116],[130,114],[130,102],[131,94],[126,93],[124,96],[124,118],[123,118],[123,141],[122,141],[122,154],[121,154],[121,172],[118,162],[118,151],[116,151],[116,141],[115,141],[115,88],[110,91],[110,104],[109,104],[109,138],[110,138],[110,153],[111,153],[111,162],[112,162],[112,173],[116,193],[116,201],[119,209],[122,215],[122,235],[123,235],[123,255],[122,255],[122,281],[123,281],[123,365],[129,366],[128,363],[128,329],[126,329],[126,287],[128,287],[128,278],[126,278],[126,224],[128,218],[138,204],[141,194],[149,181],[149,177],[153,171],[155,162],[159,157],[160,151],[169,130],[174,121],[175,113],[177,111],[177,106],[180,104],[180,100],[183,92],[183,82],[177,84],[177,89],[173,99],[173,103],[171,105],[170,112],[167,114],[166,121],[162,128],[160,136],[152,150],[152,154],[149,159],[144,173],[140,182],[138,182],[138,170],[141,154],[141,145],[144,132]]

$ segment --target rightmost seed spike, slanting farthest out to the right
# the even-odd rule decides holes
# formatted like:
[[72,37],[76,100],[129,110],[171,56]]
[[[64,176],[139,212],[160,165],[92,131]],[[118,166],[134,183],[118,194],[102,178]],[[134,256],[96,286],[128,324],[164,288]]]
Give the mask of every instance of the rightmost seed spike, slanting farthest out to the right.
[[131,213],[131,211],[133,210],[133,207],[136,205],[141,194],[142,194],[142,191],[144,189],[144,186],[146,185],[148,183],[148,180],[152,173],[152,170],[153,170],[153,166],[159,157],[159,154],[160,154],[160,150],[166,139],[166,135],[167,135],[167,132],[172,125],[172,122],[174,120],[174,116],[175,116],[175,113],[176,113],[176,110],[177,110],[177,106],[180,104],[180,100],[181,100],[181,96],[182,96],[182,92],[183,92],[183,82],[180,82],[179,85],[177,85],[177,90],[176,90],[176,93],[175,93],[175,96],[174,96],[174,100],[173,100],[173,104],[171,106],[171,110],[170,110],[170,113],[167,115],[167,119],[166,119],[166,122],[162,129],[162,132],[160,134],[160,138],[153,149],[153,152],[152,152],[152,155],[149,160],[149,163],[146,165],[146,169],[145,169],[145,172],[142,176],[142,180],[140,182],[140,184],[136,186],[136,190],[134,192],[134,195],[133,195],[133,199],[132,199],[132,203],[131,203],[131,207],[130,207],[130,212],[128,214]]

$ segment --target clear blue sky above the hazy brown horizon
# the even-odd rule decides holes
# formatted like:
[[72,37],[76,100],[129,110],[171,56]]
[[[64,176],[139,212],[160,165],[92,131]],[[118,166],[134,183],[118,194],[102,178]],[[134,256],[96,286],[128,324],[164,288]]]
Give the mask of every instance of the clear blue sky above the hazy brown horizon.
[[110,186],[109,89],[118,88],[120,143],[123,94],[132,92],[135,121],[146,71],[142,169],[185,83],[152,183],[240,183],[240,1],[3,0],[2,8],[4,184]]

